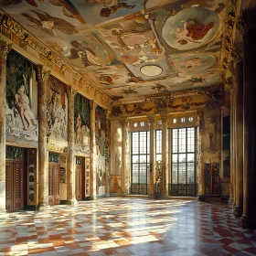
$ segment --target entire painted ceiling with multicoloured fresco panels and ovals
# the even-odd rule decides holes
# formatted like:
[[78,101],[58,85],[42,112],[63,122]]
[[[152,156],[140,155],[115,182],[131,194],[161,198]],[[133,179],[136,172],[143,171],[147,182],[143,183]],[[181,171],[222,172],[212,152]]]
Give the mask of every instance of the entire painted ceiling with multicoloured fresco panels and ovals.
[[114,101],[219,84],[227,0],[0,0]]

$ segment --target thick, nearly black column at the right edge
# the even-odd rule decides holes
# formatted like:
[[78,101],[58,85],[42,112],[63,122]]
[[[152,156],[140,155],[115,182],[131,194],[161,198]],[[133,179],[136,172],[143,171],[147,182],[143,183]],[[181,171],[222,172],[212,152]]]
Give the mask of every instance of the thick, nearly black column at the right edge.
[[243,40],[243,214],[242,227],[256,228],[256,17],[255,9],[242,14]]

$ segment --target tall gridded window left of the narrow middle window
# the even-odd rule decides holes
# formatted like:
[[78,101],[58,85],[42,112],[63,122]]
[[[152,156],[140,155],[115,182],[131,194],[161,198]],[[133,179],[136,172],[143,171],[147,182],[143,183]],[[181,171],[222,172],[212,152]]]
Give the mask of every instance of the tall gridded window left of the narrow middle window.
[[132,133],[132,194],[148,194],[150,169],[149,141],[149,132]]

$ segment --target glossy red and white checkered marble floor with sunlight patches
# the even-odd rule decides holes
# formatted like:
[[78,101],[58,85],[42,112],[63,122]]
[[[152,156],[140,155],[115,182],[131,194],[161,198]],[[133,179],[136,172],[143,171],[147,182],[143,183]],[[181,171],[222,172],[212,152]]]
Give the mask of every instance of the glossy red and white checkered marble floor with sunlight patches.
[[228,205],[109,197],[0,219],[0,255],[256,255]]

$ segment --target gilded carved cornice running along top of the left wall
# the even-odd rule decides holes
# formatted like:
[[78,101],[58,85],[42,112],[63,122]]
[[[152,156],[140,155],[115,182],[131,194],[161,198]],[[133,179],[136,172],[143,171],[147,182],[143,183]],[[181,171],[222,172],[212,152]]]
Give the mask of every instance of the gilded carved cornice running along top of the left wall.
[[17,24],[13,18],[7,16],[2,10],[0,10],[0,24],[5,27],[7,31],[14,33],[17,37],[21,38],[23,48],[27,45],[30,48],[35,49],[41,59],[48,59],[50,62],[58,66],[63,73],[68,74],[74,80],[79,81],[80,84],[85,86],[85,88],[90,87],[93,88],[94,91],[97,90],[97,95],[101,101],[105,101],[107,104],[112,105],[112,99],[102,91],[96,89],[97,86],[94,82],[83,77],[77,70],[73,69],[68,62],[59,58],[55,52],[43,45],[43,43],[33,37],[24,27]]

